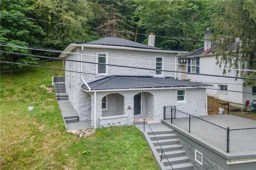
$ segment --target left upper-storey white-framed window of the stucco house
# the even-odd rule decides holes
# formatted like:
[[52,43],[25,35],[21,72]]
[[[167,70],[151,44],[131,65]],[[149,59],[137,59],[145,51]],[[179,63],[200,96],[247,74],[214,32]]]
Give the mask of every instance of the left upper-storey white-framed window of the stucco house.
[[107,74],[108,73],[108,53],[97,53],[96,65],[97,74]]

